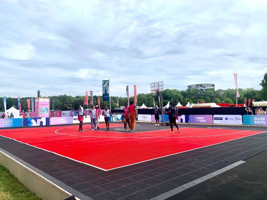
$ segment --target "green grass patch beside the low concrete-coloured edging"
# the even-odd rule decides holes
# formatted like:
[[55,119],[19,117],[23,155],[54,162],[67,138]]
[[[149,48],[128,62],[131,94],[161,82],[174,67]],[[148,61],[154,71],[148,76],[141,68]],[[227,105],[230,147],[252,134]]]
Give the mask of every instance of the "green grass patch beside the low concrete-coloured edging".
[[42,200],[0,165],[0,200]]

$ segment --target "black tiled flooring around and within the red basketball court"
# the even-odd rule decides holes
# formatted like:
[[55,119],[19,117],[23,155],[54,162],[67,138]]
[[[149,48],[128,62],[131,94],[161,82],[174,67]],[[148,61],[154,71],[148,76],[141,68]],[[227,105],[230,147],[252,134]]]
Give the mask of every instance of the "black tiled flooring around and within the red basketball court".
[[[134,134],[170,128],[154,125],[138,122],[137,133]],[[200,132],[206,129],[216,132],[219,129],[259,133],[106,171],[3,136],[0,136],[0,150],[79,199],[160,200],[174,199],[175,194],[198,183],[205,183],[267,149],[265,127],[192,124],[179,124],[179,127],[183,133],[187,128],[197,128]],[[117,134],[129,132],[118,127],[112,127],[111,131]],[[131,141],[131,137],[127,140]],[[194,140],[195,143],[197,141]],[[192,145],[189,142],[188,145]],[[135,145],[138,148],[144,144],[140,140]],[[145,145],[153,146],[153,143]]]

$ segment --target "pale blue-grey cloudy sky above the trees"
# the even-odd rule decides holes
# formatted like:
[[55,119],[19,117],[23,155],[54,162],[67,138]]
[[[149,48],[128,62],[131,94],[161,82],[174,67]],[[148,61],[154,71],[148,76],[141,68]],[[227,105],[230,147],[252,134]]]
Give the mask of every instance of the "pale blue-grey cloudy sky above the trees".
[[[201,3],[200,3],[201,2]],[[267,72],[265,0],[3,0],[0,96],[260,90]]]

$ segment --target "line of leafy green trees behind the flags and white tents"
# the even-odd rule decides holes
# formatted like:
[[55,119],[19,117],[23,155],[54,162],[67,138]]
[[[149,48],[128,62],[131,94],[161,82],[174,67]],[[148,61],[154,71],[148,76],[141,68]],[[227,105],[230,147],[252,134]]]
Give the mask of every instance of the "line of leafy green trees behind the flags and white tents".
[[[262,86],[261,90],[254,90],[253,88],[242,89],[239,88],[238,92],[240,97],[238,98],[238,104],[244,104],[245,99],[255,99],[255,101],[267,100],[267,73],[265,73],[263,80],[260,85]],[[196,89],[190,89],[190,94],[196,94]],[[206,94],[212,94],[213,88],[207,88]],[[189,89],[187,90],[177,90],[177,89],[165,89],[161,91],[161,96],[163,98],[163,106],[165,106],[168,101],[173,102],[175,105],[180,102],[183,106],[185,106],[188,101]],[[126,96],[126,94],[125,94]],[[37,92],[37,97],[41,97],[40,91]],[[59,95],[59,96],[47,96],[50,97],[50,109],[52,109],[52,100],[54,100],[54,110],[77,110],[81,102],[84,102],[85,96],[68,96],[68,95]],[[88,97],[90,98],[90,97]],[[119,108],[120,106],[124,106],[124,103],[127,103],[127,97],[118,97],[111,96],[111,109],[117,108],[117,98],[119,98]],[[152,93],[141,93],[137,95],[137,105],[142,106],[143,103],[147,107],[153,107],[153,98],[155,100],[155,104],[159,106],[158,95],[153,96]],[[20,98],[21,108],[24,111],[28,111],[27,99],[31,99],[31,97],[22,97]],[[35,99],[35,98],[34,98]],[[134,100],[134,96],[129,97],[129,101]],[[204,99],[199,99],[199,102]],[[215,103],[236,103],[236,89],[218,89],[215,90]],[[0,111],[4,111],[3,97],[0,97]],[[213,102],[213,98],[206,97],[206,102]],[[196,98],[191,98],[190,103],[197,103]],[[90,102],[89,102],[90,104]],[[98,96],[93,96],[93,104],[98,104]],[[102,96],[100,96],[100,107],[104,109],[105,106],[109,108],[109,101],[103,101]],[[7,109],[11,107],[15,107],[18,109],[18,100],[17,98],[7,97]],[[88,106],[90,108],[91,105]],[[84,105],[84,108],[87,109],[87,105]]]

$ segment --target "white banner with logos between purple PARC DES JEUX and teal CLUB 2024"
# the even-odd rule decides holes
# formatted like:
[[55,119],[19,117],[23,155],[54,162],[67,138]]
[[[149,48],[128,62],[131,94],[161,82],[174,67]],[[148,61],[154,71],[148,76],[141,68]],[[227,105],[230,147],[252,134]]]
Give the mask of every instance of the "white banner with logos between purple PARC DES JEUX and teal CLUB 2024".
[[242,115],[213,115],[213,123],[242,125]]

